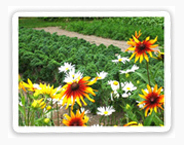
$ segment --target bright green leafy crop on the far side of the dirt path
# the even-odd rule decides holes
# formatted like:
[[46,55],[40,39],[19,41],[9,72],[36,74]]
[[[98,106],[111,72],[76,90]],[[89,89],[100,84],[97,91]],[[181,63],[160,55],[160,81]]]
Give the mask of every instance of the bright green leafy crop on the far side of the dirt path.
[[91,21],[69,21],[61,24],[62,29],[86,35],[96,35],[114,40],[129,40],[135,31],[141,30],[141,38],[158,36],[158,44],[164,43],[163,17],[107,17]]

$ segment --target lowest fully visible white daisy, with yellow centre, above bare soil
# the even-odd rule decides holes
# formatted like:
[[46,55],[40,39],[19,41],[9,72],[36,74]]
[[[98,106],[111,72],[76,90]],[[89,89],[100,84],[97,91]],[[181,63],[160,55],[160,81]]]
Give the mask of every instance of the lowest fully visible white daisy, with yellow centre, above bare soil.
[[99,112],[97,112],[98,115],[104,115],[104,116],[109,116],[112,114],[112,112],[115,112],[115,110],[112,106],[98,107],[97,110],[99,111]]

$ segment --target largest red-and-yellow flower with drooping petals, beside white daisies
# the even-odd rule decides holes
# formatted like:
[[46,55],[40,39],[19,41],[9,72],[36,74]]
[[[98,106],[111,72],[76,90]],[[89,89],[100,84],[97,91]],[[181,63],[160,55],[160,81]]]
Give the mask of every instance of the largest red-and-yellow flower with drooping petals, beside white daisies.
[[70,82],[67,82],[67,84],[62,87],[59,98],[63,99],[63,106],[67,103],[66,109],[70,104],[72,104],[71,107],[73,107],[75,101],[79,104],[79,106],[82,106],[80,100],[86,106],[87,103],[84,101],[84,97],[91,102],[95,102],[94,99],[90,98],[89,94],[96,96],[94,93],[95,90],[90,86],[96,83],[97,77],[89,81],[90,78],[91,77],[86,76],[83,78],[78,77],[77,79],[71,79]]

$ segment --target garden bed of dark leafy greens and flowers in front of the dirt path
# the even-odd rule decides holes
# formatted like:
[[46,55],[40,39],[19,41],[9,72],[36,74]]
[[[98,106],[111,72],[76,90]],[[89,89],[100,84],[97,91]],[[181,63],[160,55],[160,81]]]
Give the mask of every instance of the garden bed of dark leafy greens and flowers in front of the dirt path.
[[[144,35],[140,34],[142,40],[146,39],[143,44],[136,33],[136,38],[134,33],[129,35],[131,39],[128,44],[132,47],[129,51],[122,52],[114,45],[96,45],[77,37],[59,36],[57,33],[20,27],[19,73],[22,76],[19,85],[34,94],[25,98],[25,95],[20,93],[20,114],[26,116],[26,105],[31,105],[27,109],[32,113],[29,121],[20,119],[20,124],[57,126],[59,121],[59,126],[68,125],[67,119],[70,120],[70,117],[64,114],[72,116],[72,110],[76,117],[79,117],[79,114],[83,113],[81,107],[85,106],[85,110],[90,113],[86,113],[88,118],[81,115],[82,125],[124,126],[129,122],[144,126],[163,125],[163,99],[159,100],[157,109],[141,110],[139,104],[145,98],[156,103],[155,96],[163,97],[163,57],[155,53],[150,57],[150,52],[150,55],[144,57],[133,57],[131,53],[137,45],[139,47],[136,49],[141,52],[149,51],[151,47],[155,49],[157,45],[153,44],[157,37],[144,38]],[[74,77],[76,75],[78,77]],[[57,100],[55,103],[54,99]],[[61,104],[59,100],[62,101]],[[50,105],[52,109],[42,110]],[[60,106],[63,107],[58,109]],[[77,110],[80,110],[80,113]],[[33,112],[36,112],[36,115]],[[50,123],[43,123],[49,112],[52,112]],[[42,117],[39,118],[40,116]]]

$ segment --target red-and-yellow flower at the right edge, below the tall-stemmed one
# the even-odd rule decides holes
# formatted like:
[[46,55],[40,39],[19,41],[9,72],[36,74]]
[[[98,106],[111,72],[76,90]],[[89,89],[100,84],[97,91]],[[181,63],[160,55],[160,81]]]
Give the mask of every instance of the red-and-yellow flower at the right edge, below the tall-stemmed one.
[[154,89],[152,90],[151,87],[147,85],[147,89],[148,92],[142,89],[143,95],[139,94],[139,96],[145,100],[138,104],[138,106],[144,104],[141,110],[145,108],[145,116],[148,115],[149,110],[149,115],[151,115],[153,110],[157,113],[157,107],[163,109],[162,105],[164,104],[164,95],[160,94],[162,87],[158,89],[157,85],[155,85]]

